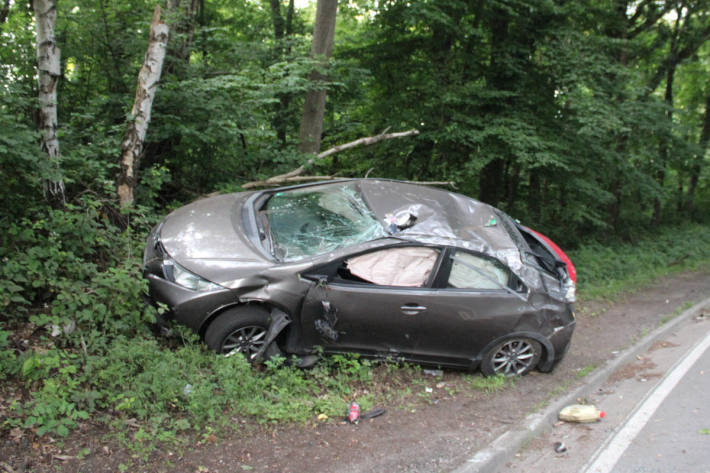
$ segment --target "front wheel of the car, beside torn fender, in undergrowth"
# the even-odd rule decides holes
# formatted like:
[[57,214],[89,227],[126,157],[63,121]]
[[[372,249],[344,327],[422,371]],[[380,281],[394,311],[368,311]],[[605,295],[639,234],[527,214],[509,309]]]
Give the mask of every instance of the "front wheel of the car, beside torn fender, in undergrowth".
[[[238,307],[219,315],[210,323],[205,332],[205,343],[219,354],[242,353],[251,363],[263,347],[269,330],[269,313],[256,307]],[[272,342],[264,351],[264,358],[280,354]]]

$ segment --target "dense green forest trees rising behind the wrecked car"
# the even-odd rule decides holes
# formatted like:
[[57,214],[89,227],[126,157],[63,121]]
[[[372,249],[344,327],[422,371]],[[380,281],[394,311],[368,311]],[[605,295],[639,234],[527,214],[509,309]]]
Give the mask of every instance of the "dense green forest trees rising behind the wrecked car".
[[[32,2],[2,3],[2,228],[43,215],[46,179],[65,182],[67,204],[111,207],[155,2],[58,2],[51,163],[37,144]],[[170,39],[136,186],[150,213],[305,162],[303,102],[325,87],[321,149],[420,134],[311,174],[453,181],[566,245],[710,214],[704,0],[341,1],[319,83],[315,4],[164,7]]]

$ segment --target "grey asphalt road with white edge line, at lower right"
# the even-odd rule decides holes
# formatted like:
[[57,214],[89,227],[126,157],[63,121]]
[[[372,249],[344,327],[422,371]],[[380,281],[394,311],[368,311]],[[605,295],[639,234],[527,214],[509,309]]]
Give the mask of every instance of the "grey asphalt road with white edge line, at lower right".
[[685,321],[589,395],[584,401],[606,411],[600,422],[559,422],[498,472],[710,473],[705,319]]

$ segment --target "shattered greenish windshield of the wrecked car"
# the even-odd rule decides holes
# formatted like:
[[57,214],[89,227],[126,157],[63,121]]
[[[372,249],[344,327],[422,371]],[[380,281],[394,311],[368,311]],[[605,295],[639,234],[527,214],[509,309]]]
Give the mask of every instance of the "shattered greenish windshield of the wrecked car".
[[278,192],[266,202],[262,214],[275,256],[286,261],[387,236],[351,183]]

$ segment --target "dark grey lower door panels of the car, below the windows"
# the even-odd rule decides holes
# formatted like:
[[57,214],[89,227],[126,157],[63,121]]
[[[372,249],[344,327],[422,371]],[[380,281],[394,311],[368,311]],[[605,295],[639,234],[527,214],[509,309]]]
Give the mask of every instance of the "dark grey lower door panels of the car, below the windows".
[[[315,329],[323,301],[337,311],[336,341]],[[510,332],[525,310],[521,299],[505,291],[329,284],[309,291],[300,323],[304,347],[468,366],[491,340]]]

